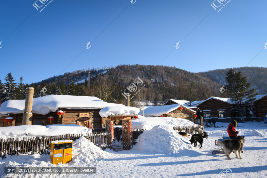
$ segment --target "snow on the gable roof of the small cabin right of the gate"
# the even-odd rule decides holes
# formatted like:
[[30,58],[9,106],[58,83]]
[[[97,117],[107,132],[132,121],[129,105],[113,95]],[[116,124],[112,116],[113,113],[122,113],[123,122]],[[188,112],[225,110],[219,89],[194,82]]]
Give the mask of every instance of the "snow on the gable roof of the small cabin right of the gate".
[[[144,116],[150,117],[150,116],[161,116],[163,114],[167,114],[177,108],[179,108],[181,104],[174,104],[174,105],[165,105],[165,106],[155,106],[155,107],[149,107],[144,110]],[[196,113],[196,111],[187,108],[186,106],[182,106],[183,108],[186,108],[187,110],[190,110],[193,113]],[[143,115],[143,110],[139,112],[139,115]]]

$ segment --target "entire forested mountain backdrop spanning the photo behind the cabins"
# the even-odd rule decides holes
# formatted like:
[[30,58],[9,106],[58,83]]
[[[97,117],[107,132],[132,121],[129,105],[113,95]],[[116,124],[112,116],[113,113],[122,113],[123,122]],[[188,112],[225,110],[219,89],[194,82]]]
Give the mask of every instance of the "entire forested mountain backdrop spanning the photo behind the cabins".
[[[131,100],[132,106],[140,107],[142,102],[148,101],[158,105],[169,99],[206,100],[211,96],[228,97],[226,91],[222,94],[219,91],[220,87],[226,84],[225,73],[228,70],[190,73],[175,67],[153,65],[93,68],[90,70],[90,86],[88,70],[67,72],[35,84],[24,84],[22,77],[20,82],[16,82],[9,73],[4,82],[0,80],[0,100],[24,99],[26,87],[31,86],[34,87],[34,97],[49,94],[96,96],[107,102],[123,103],[123,91],[137,77],[141,78],[145,87]],[[234,70],[242,71],[242,74],[247,76],[247,81],[251,82],[251,87],[258,89],[260,94],[267,94],[266,68],[246,67]],[[128,89],[125,92],[129,92]]]

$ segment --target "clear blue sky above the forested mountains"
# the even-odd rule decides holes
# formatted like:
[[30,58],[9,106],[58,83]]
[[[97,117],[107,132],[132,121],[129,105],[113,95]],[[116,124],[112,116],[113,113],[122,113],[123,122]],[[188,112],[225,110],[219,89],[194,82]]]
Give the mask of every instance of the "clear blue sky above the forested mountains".
[[231,0],[219,13],[225,3],[218,1],[225,0],[214,2],[221,5],[216,11],[213,0],[53,0],[41,13],[45,4],[36,1],[43,5],[37,11],[35,1],[0,2],[2,82],[8,72],[30,84],[62,71],[120,64],[201,72],[253,59],[247,66],[267,67],[264,0]]

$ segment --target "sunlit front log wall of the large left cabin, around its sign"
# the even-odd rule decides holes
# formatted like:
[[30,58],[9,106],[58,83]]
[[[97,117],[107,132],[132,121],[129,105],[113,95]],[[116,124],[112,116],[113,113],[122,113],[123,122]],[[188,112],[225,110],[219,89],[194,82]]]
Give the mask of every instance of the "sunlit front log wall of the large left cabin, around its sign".
[[[101,109],[63,109],[64,114],[58,118],[58,124],[77,124],[77,120],[87,118],[91,122],[92,132],[102,131]],[[88,117],[80,117],[79,113],[90,113]]]

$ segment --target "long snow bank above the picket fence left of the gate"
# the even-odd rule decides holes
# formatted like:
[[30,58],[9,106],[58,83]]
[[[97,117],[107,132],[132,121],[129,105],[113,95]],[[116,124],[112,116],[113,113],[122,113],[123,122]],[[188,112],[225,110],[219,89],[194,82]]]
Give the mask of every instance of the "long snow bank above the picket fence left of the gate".
[[42,137],[58,136],[65,134],[91,134],[91,129],[76,124],[67,125],[25,125],[13,127],[0,127],[0,139],[23,138],[23,137]]

